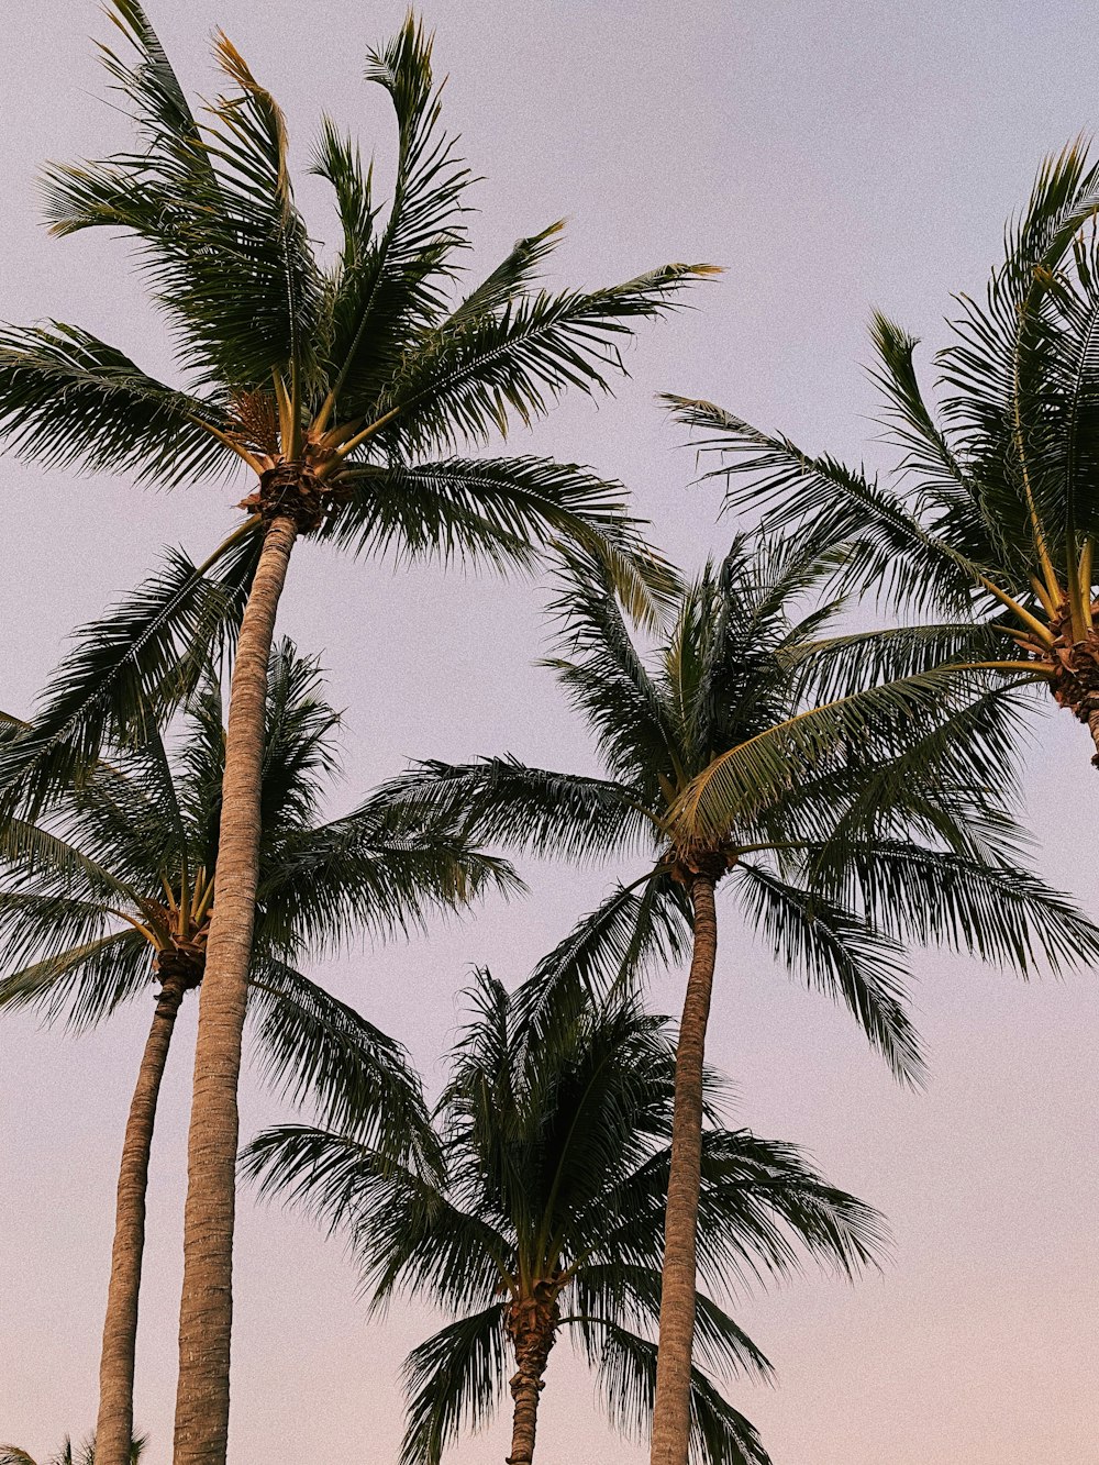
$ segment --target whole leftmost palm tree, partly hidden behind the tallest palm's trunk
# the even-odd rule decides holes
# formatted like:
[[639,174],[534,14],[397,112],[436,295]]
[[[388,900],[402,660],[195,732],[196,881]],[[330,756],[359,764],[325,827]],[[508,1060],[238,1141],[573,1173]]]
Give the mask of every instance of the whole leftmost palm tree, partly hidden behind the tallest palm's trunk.
[[[151,719],[149,719],[151,721]],[[337,722],[317,665],[284,642],[271,656],[249,1012],[262,1074],[295,1099],[365,1127],[397,1154],[431,1151],[403,1050],[309,982],[308,951],[388,935],[513,883],[501,861],[445,831],[415,828],[369,798],[318,817]],[[100,1365],[100,1465],[133,1428],[138,1291],[152,1130],[176,1014],[204,977],[224,766],[211,680],[170,756],[147,743],[70,790],[42,823],[12,820],[0,848],[0,1009],[32,1006],[88,1027],[157,993],[126,1124]]]

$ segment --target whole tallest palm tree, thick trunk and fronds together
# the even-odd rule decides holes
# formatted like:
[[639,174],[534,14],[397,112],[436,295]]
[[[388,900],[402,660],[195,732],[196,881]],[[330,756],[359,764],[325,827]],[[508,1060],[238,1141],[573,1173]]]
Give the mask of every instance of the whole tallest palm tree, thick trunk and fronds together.
[[[670,265],[626,284],[557,294],[532,275],[558,224],[520,240],[460,302],[469,170],[440,127],[431,40],[410,15],[369,54],[399,129],[388,211],[372,173],[330,120],[312,170],[333,189],[341,245],[331,267],[296,208],[287,130],[273,95],[227,37],[215,59],[229,91],[195,117],[138,0],[108,0],[127,54],[104,50],[136,126],[132,151],[54,167],[56,233],[107,227],[132,236],[167,315],[186,385],[166,385],[73,325],[9,328],[0,338],[0,428],[18,451],[56,466],[130,472],[177,483],[240,467],[254,475],[245,523],[214,557],[237,565],[246,608],[229,709],[218,892],[199,1002],[185,1217],[176,1461],[226,1456],[237,1075],[258,880],[259,768],[267,656],[290,552],[302,536],[353,552],[479,555],[529,564],[552,535],[596,538],[626,558],[636,535],[620,495],[580,469],[542,459],[453,456],[510,418],[548,410],[569,387],[605,388],[617,343],[664,314],[705,274]],[[432,454],[444,454],[432,457]],[[210,568],[210,563],[205,568]],[[147,605],[154,650],[188,620],[195,580]],[[148,642],[116,652],[133,668]],[[111,691],[125,690],[120,671]],[[72,705],[28,738],[23,794],[73,749],[86,753],[103,713]],[[116,713],[117,715],[117,713]]]

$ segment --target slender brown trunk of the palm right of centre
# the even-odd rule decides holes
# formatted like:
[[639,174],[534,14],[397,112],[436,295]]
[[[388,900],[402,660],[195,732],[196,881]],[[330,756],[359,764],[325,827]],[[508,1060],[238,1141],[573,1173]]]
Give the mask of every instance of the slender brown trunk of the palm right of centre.
[[697,1214],[702,1171],[702,1069],[706,1021],[718,955],[715,878],[690,880],[695,946],[676,1050],[676,1106],[671,1119],[668,1209],[664,1220],[661,1330],[651,1465],[687,1465],[690,1444],[690,1364],[695,1340]]

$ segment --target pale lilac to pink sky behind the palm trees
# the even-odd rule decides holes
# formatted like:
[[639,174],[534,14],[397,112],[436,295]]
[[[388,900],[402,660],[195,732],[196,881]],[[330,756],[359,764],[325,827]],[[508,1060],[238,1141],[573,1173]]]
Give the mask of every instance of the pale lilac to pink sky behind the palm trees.
[[[299,170],[324,111],[391,177],[384,94],[366,47],[397,0],[149,0],[185,84],[212,94],[221,25],[287,113]],[[812,450],[888,464],[860,366],[873,308],[944,341],[954,292],[983,287],[1005,218],[1039,160],[1096,122],[1095,7],[1064,0],[435,0],[435,63],[481,212],[473,277],[513,239],[567,217],[550,283],[595,286],[673,259],[725,267],[690,309],[646,327],[614,398],[570,398],[514,451],[593,464],[633,492],[686,568],[734,523],[654,394],[705,396]],[[4,15],[0,97],[0,318],[79,322],[171,372],[161,322],[126,249],[56,242],[40,224],[47,158],[126,138],[103,105],[85,0]],[[331,239],[317,180],[299,198]],[[0,459],[0,705],[25,713],[72,627],[132,587],[164,544],[201,555],[234,522],[240,486],[154,495],[110,478]],[[350,807],[410,757],[511,752],[593,769],[552,678],[545,586],[295,555],[280,627],[328,670],[346,709]],[[1030,724],[1026,815],[1036,864],[1099,916],[1099,778],[1086,732]],[[473,964],[520,980],[614,872],[525,867],[532,894],[311,968],[400,1037],[432,1087],[463,1020]],[[790,980],[733,908],[722,927],[709,1056],[731,1075],[736,1124],[807,1147],[881,1207],[894,1235],[854,1286],[807,1272],[741,1299],[737,1317],[778,1370],[731,1398],[775,1465],[1092,1465],[1099,1373],[1099,1166],[1093,974],[1021,983],[969,958],[913,954],[930,1055],[925,1093],[900,1090],[845,1014]],[[683,971],[649,1001],[674,1012]],[[122,1130],[145,1026],[138,1004],[79,1039],[34,1018],[0,1026],[0,1440],[35,1458],[95,1417]],[[177,1024],[149,1197],[136,1415],[148,1465],[167,1465],[193,1002]],[[254,1072],[242,1134],[286,1116]],[[399,1362],[441,1324],[419,1305],[368,1317],[337,1241],[242,1195],[230,1461],[396,1459]],[[538,1456],[634,1465],[566,1349],[550,1364]],[[501,1459],[506,1430],[466,1439],[454,1465]]]

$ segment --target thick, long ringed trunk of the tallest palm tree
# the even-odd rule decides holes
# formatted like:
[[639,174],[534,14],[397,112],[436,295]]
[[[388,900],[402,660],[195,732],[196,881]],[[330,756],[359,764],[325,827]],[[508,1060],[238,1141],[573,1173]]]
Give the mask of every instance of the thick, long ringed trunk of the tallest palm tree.
[[296,535],[289,514],[267,526],[229,697],[221,832],[188,1138],[174,1465],[226,1465],[237,1080],[259,861],[267,668]]

